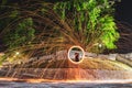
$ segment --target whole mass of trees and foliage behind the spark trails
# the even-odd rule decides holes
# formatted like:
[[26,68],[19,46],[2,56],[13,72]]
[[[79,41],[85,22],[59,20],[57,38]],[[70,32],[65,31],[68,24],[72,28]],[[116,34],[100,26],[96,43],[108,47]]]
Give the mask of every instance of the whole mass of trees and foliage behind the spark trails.
[[30,0],[9,3],[2,0],[0,31],[7,45],[6,53],[21,50],[25,56],[34,56],[68,50],[73,45],[79,45],[87,52],[98,52],[99,44],[105,48],[116,48],[119,33],[116,31],[112,2],[69,0],[51,3]]

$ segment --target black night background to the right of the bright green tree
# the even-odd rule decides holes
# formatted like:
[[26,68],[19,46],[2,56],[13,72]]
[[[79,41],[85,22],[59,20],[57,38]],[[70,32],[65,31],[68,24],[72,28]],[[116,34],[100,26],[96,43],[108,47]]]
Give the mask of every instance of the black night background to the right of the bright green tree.
[[116,2],[116,21],[120,38],[117,53],[132,53],[132,0]]

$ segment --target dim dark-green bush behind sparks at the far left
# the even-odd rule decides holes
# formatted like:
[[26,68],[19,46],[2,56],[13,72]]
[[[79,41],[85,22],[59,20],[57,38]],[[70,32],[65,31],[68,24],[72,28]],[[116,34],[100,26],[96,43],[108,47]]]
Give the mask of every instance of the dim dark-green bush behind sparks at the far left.
[[14,30],[11,30],[6,34],[6,44],[9,48],[15,48],[18,46],[23,46],[30,44],[34,37],[35,30],[33,29],[33,21],[31,18],[23,20],[18,23]]

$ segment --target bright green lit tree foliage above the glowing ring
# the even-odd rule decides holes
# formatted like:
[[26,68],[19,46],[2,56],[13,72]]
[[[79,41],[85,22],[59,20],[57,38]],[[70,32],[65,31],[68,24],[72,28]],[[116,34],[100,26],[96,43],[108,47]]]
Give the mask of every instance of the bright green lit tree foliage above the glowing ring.
[[112,6],[108,0],[70,0],[57,2],[54,10],[73,28],[76,40],[86,51],[96,43],[111,50],[119,38]]

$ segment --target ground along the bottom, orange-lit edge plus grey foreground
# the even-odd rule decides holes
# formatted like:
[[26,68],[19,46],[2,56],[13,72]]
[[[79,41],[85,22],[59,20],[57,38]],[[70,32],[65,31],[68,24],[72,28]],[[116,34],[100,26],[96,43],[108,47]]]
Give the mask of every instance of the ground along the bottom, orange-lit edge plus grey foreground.
[[0,88],[132,88],[131,80],[45,80],[0,78]]

